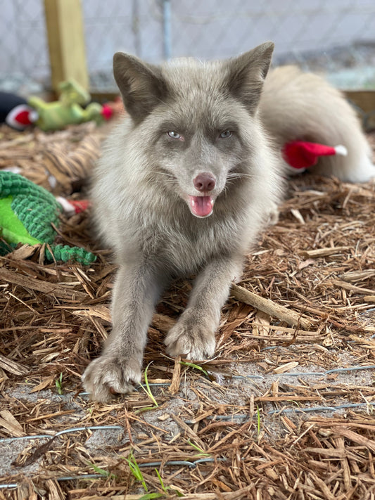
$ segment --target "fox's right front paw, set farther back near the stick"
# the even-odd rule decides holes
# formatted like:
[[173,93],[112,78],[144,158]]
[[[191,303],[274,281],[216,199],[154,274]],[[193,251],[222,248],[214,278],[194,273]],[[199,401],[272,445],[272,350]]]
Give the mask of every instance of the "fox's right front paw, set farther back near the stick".
[[207,359],[215,352],[215,328],[182,316],[164,340],[170,356]]

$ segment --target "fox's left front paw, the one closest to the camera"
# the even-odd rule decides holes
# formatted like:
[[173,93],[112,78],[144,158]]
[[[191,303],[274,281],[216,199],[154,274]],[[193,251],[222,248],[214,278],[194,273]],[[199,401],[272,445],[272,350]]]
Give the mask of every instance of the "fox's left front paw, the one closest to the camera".
[[103,354],[91,361],[82,375],[85,390],[94,401],[106,403],[116,393],[132,392],[133,383],[141,380],[141,363],[137,359],[120,359]]

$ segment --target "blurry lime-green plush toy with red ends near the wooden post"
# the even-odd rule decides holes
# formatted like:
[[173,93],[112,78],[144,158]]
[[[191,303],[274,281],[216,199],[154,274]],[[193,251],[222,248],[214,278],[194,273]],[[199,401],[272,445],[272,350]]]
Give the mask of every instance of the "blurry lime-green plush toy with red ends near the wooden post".
[[[0,92],[0,121],[18,130],[37,125],[44,131],[63,129],[66,125],[94,120],[101,124],[113,115],[110,105],[89,103],[90,96],[75,80],[60,84],[58,101],[46,103],[37,96],[27,101],[15,94]],[[82,108],[82,105],[87,105]]]

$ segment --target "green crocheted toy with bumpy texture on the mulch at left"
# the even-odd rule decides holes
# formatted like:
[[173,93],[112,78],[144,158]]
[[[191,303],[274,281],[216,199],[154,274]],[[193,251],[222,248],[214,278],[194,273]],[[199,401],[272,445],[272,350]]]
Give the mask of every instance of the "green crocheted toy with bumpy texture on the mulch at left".
[[[84,248],[54,244],[57,232],[53,225],[60,225],[58,216],[62,211],[61,204],[42,186],[19,174],[0,172],[0,237],[13,247],[18,243],[48,243],[53,252],[51,255],[46,248],[49,260],[73,259],[91,264],[96,256]],[[0,247],[0,253],[8,253],[5,245]]]

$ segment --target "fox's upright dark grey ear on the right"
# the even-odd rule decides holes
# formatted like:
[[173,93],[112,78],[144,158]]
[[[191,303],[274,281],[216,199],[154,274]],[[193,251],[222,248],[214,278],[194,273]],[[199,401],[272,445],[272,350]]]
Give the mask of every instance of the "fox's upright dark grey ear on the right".
[[271,63],[274,44],[255,47],[235,59],[229,59],[227,86],[233,96],[246,105],[250,113],[255,113],[262,92],[263,83]]

